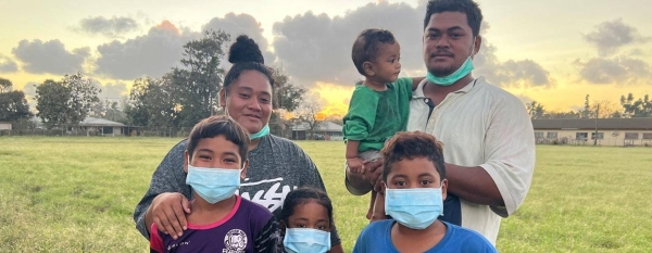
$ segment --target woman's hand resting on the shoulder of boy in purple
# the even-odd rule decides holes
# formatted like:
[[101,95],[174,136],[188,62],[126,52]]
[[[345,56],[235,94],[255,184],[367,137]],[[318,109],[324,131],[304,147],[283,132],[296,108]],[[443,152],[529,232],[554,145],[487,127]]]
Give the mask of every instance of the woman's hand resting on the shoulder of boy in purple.
[[[148,229],[151,227],[151,223],[156,224],[159,230],[171,235],[176,240],[188,228],[186,214],[190,214],[190,202],[184,194],[178,192],[161,193],[152,200],[146,214],[146,224]],[[147,223],[148,219],[151,222]]]

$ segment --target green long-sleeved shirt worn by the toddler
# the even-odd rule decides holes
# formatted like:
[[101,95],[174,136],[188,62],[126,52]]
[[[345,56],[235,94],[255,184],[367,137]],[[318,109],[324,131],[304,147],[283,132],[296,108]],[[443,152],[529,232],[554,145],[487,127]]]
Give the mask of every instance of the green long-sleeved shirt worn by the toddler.
[[343,118],[344,141],[360,141],[359,152],[383,149],[385,140],[405,130],[411,98],[411,77],[387,84],[385,91],[356,84]]

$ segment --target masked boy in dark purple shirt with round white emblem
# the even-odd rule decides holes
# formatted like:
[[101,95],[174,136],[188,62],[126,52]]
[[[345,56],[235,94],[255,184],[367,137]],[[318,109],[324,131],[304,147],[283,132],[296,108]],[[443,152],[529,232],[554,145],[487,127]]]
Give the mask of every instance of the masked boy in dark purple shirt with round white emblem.
[[174,239],[152,224],[152,252],[283,250],[272,213],[235,194],[247,174],[249,139],[242,127],[225,116],[205,118],[192,128],[184,164],[193,197],[192,212],[186,215],[188,229]]

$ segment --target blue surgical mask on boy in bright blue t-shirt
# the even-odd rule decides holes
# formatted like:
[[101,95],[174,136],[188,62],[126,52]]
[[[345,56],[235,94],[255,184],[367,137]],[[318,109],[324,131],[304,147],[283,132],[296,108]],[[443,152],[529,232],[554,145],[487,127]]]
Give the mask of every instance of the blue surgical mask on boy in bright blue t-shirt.
[[425,229],[443,214],[441,188],[388,188],[385,213],[405,227]]

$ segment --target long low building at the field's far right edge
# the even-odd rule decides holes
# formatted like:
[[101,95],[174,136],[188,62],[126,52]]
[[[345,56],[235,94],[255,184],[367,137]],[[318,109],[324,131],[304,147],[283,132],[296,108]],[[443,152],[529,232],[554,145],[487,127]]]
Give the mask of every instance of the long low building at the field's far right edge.
[[[652,118],[532,119],[537,143],[652,147]],[[598,132],[595,132],[598,129]]]

